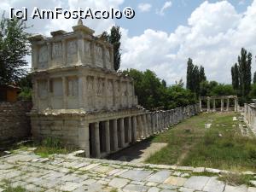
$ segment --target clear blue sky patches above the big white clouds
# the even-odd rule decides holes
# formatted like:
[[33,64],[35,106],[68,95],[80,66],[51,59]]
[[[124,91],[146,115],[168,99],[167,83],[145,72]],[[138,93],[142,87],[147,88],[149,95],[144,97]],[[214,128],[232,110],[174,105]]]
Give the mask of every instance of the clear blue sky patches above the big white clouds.
[[[191,13],[199,7],[203,0],[172,0],[172,6],[166,9],[164,15],[155,14],[156,9],[166,3],[165,0],[146,0],[146,1],[125,1],[120,8],[131,7],[136,11],[136,17],[132,20],[117,20],[117,24],[130,30],[130,35],[139,35],[147,28],[151,28],[157,31],[173,32],[177,26],[186,25]],[[212,0],[209,3],[216,3],[218,1]],[[237,10],[238,13],[242,13],[247,9],[253,0],[229,1]],[[148,12],[142,12],[138,9],[138,4],[149,3],[151,9]]]

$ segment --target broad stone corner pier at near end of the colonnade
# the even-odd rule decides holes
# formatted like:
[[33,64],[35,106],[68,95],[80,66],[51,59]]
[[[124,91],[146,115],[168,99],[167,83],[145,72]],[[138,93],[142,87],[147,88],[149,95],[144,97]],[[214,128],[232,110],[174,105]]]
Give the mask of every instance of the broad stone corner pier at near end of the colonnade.
[[85,123],[83,119],[80,119],[79,148],[83,148],[85,151],[85,157],[90,158],[89,123]]

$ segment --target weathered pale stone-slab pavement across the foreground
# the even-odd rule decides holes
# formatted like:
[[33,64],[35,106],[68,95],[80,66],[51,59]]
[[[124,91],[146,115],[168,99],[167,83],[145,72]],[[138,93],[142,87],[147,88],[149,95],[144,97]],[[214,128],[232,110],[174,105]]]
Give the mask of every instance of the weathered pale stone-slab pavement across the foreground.
[[216,169],[94,160],[74,154],[41,158],[32,149],[0,158],[0,191],[11,185],[33,192],[256,192],[253,187],[230,186],[217,177],[200,176],[205,171],[221,172]]

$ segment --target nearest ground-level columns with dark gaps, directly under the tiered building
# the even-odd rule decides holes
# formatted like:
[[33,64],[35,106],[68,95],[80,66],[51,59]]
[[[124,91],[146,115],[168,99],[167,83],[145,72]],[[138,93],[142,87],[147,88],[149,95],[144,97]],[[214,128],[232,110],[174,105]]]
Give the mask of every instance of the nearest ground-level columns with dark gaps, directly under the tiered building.
[[[101,158],[137,141],[137,117],[91,123],[90,157]],[[86,155],[89,156],[89,155]]]

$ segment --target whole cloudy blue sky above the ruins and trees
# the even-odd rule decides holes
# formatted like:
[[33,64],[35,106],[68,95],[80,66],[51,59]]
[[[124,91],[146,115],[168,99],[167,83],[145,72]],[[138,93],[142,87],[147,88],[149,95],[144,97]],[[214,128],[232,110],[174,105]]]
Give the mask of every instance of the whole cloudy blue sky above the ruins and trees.
[[[121,27],[121,69],[150,69],[167,84],[185,80],[186,62],[205,67],[208,80],[231,83],[230,67],[241,47],[256,55],[256,0],[1,0],[0,14],[9,7],[40,9],[135,9],[136,16],[121,20],[84,20],[96,35]],[[72,31],[78,20],[27,20],[29,32],[49,36]],[[27,57],[30,62],[30,57]],[[253,60],[252,72],[256,70]]]

